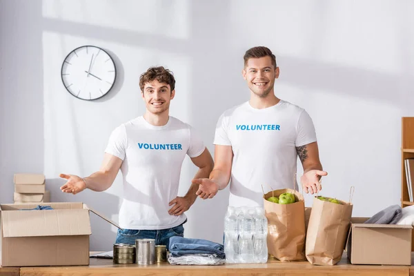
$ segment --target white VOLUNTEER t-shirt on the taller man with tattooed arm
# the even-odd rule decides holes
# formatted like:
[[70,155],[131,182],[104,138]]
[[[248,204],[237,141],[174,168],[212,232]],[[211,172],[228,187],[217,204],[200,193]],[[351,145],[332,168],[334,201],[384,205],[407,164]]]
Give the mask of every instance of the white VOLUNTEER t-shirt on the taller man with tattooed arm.
[[214,144],[233,149],[229,206],[263,206],[262,185],[265,193],[293,188],[296,147],[314,141],[311,117],[288,101],[264,109],[246,102],[224,112]]

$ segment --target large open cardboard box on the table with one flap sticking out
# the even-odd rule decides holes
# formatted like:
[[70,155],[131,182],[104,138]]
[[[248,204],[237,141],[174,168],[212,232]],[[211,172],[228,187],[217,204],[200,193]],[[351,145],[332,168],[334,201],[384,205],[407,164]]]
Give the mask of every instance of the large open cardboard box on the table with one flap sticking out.
[[1,266],[88,265],[89,212],[99,214],[81,202],[48,204],[54,210],[21,210],[37,205],[0,205]]

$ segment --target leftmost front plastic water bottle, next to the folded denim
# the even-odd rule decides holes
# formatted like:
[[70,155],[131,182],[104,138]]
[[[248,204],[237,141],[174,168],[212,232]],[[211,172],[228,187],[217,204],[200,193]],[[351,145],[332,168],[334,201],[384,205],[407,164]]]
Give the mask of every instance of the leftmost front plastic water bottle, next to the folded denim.
[[236,209],[228,206],[226,217],[224,217],[224,253],[226,263],[234,264],[237,262],[239,228],[237,226]]

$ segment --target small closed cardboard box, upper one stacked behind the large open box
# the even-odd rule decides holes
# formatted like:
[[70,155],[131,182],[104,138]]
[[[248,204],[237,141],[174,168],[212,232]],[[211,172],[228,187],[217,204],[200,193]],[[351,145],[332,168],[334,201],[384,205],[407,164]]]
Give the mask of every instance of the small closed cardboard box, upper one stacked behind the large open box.
[[45,176],[30,173],[14,174],[14,192],[26,194],[44,194]]

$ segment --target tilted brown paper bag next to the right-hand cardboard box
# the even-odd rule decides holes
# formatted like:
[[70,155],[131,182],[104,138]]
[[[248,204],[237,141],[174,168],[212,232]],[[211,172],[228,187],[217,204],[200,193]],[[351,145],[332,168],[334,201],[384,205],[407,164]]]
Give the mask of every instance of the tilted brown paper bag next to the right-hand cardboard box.
[[[328,197],[327,197],[328,198]],[[306,259],[311,264],[333,266],[344,253],[353,205],[341,201],[334,204],[313,199],[311,217],[306,232]]]

